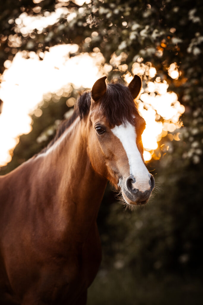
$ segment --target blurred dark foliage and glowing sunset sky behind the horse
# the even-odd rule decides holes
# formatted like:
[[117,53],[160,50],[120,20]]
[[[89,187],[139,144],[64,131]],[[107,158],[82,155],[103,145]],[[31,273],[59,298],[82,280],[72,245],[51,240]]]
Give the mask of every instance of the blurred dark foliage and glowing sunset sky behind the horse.
[[143,80],[156,189],[128,211],[107,186],[88,305],[202,300],[202,20],[200,0],[0,2],[1,175],[44,148],[98,78]]

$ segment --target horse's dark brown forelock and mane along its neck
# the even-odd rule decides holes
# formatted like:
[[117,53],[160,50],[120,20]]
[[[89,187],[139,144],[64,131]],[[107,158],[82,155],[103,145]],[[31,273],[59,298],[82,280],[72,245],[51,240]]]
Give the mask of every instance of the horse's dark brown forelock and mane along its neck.
[[[108,84],[107,91],[98,101],[100,111],[107,118],[110,125],[120,125],[130,122],[134,124],[134,115],[138,113],[134,99],[123,84]],[[64,133],[64,131],[79,116],[82,120],[89,113],[91,104],[91,91],[84,91],[78,98],[72,116],[61,122],[54,139],[40,153],[46,152]]]

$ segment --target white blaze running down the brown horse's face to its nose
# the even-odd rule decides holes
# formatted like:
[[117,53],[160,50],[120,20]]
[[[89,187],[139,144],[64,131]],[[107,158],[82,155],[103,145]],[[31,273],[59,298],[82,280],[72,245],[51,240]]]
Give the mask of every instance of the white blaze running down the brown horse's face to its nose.
[[149,190],[151,188],[151,185],[149,184],[150,174],[136,144],[137,135],[135,127],[132,124],[127,123],[126,126],[124,126],[124,124],[115,126],[111,131],[121,141],[128,157],[130,167],[129,174],[133,175],[136,179],[136,182],[133,183],[133,187],[141,192]]

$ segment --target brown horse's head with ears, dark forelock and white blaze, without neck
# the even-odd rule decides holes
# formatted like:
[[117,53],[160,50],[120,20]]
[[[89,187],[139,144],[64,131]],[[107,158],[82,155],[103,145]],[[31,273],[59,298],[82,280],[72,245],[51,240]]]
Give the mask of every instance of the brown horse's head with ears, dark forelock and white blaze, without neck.
[[106,85],[106,76],[95,82],[85,124],[87,152],[93,169],[121,189],[126,203],[144,204],[155,181],[143,159],[145,120],[135,105],[142,88],[137,75],[128,87]]

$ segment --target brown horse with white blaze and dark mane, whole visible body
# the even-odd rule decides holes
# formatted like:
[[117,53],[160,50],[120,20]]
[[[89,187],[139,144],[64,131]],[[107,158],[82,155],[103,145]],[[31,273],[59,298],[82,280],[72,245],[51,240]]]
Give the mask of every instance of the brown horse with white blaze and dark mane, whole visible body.
[[101,262],[97,213],[107,181],[126,204],[155,186],[143,159],[142,80],[98,79],[40,153],[0,176],[0,304],[84,305]]

